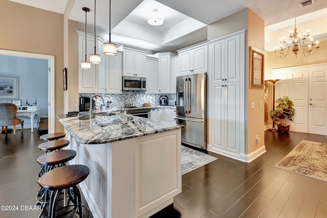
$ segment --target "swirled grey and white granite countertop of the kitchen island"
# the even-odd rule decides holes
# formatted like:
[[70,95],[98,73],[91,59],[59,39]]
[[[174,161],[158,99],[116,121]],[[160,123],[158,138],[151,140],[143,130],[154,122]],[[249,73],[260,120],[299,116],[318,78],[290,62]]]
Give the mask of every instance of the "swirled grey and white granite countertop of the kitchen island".
[[172,122],[107,112],[105,116],[80,113],[78,115],[57,115],[67,131],[84,144],[101,144],[134,137],[166,132],[182,128]]

